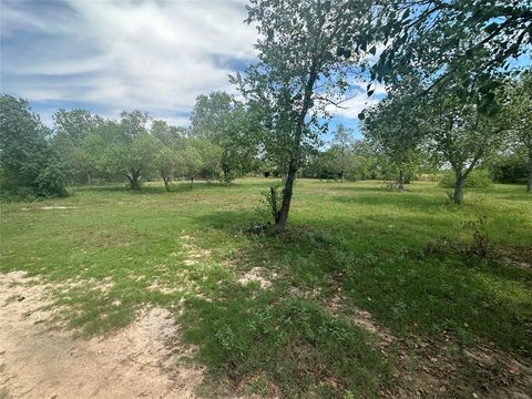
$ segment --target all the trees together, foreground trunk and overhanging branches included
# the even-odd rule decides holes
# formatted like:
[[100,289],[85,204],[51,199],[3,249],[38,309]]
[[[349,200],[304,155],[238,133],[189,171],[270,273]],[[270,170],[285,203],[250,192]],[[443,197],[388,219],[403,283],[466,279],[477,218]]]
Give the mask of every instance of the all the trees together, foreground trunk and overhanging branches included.
[[[272,191],[279,232],[301,175],[395,176],[402,190],[418,171],[450,170],[460,204],[471,173],[484,167],[508,182],[525,174],[532,191],[531,73],[519,62],[532,45],[526,1],[249,0],[246,8],[259,39],[257,62],[229,78],[242,101],[198,96],[187,129],[140,111],[109,120],[83,110],[58,111],[49,129],[28,102],[4,94],[2,181],[61,195],[65,184],[94,177],[139,190],[156,175],[170,187],[176,177],[228,183],[263,170],[284,178],[282,192]],[[355,76],[368,81],[368,96],[377,84],[387,96],[360,113],[364,141],[338,126],[324,146]]]

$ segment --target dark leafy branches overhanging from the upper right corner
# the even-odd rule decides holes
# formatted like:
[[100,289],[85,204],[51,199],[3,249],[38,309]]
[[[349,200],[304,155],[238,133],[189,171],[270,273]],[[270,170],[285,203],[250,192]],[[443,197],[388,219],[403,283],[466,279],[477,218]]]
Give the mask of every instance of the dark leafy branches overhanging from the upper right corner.
[[460,95],[484,112],[501,75],[523,69],[513,60],[531,50],[531,6],[530,0],[377,1],[360,45],[372,54],[385,47],[372,79],[401,86],[416,75],[421,92],[458,79],[472,83]]

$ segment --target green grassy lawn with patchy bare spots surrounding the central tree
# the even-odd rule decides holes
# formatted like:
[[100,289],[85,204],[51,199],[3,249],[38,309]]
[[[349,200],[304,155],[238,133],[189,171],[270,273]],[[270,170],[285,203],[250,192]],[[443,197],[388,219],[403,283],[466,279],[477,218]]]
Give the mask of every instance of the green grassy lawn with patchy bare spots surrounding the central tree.
[[298,180],[290,228],[276,235],[257,213],[276,183],[177,183],[170,193],[116,184],[4,203],[0,272],[62,287],[52,306],[80,339],[122,328],[144,307],[171,310],[176,339],[207,366],[201,396],[532,390],[523,186],[468,190],[456,206],[437,183],[397,193],[381,182]]

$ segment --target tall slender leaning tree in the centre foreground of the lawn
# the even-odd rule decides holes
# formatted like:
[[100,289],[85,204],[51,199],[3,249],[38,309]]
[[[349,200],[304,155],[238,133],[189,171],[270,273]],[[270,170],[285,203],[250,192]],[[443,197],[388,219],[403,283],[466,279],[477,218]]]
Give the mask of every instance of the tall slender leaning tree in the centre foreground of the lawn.
[[[258,63],[232,78],[250,109],[262,110],[266,151],[287,161],[278,231],[286,229],[294,181],[305,150],[326,130],[328,108],[348,89],[356,54],[348,49],[354,27],[367,8],[354,1],[252,0]],[[325,122],[324,122],[325,120]]]

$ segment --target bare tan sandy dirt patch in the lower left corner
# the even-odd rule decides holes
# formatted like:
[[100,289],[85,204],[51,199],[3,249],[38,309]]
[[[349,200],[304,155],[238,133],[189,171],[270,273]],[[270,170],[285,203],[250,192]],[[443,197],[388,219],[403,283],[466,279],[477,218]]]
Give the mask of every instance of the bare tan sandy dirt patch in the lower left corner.
[[0,399],[194,398],[203,370],[178,366],[186,349],[164,309],[144,310],[109,337],[73,339],[50,328],[49,286],[0,274]]

